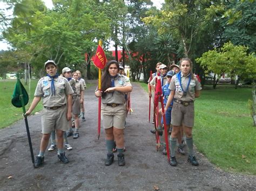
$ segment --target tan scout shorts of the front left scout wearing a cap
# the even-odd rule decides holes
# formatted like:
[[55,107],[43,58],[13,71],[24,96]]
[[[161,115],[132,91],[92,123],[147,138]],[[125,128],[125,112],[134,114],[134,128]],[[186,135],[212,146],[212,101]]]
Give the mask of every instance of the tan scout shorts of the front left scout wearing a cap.
[[42,133],[48,134],[54,130],[67,131],[69,122],[66,119],[67,107],[53,109],[43,109],[42,112]]

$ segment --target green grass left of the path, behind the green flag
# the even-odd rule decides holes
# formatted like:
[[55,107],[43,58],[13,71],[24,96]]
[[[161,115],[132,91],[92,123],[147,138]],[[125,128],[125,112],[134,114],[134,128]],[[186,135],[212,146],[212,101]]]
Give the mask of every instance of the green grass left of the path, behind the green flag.
[[[21,80],[23,86],[29,94],[29,86],[25,85],[24,80]],[[35,93],[36,85],[38,80],[31,80],[31,90],[29,103],[26,105],[26,110],[28,110],[29,105],[33,100],[33,95]],[[0,129],[10,126],[12,123],[22,119],[22,108],[15,108],[11,104],[12,93],[16,80],[0,80]],[[87,88],[93,86],[91,83],[86,83]],[[85,90],[86,91],[86,90]],[[42,101],[39,102],[32,114],[43,109]]]

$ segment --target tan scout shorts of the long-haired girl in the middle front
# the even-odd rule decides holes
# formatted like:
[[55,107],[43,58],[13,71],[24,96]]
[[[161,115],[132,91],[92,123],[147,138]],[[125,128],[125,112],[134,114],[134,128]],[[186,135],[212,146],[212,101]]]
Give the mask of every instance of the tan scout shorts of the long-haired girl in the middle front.
[[112,126],[117,129],[124,129],[125,118],[126,108],[124,104],[118,105],[117,107],[102,105],[104,129],[112,128]]

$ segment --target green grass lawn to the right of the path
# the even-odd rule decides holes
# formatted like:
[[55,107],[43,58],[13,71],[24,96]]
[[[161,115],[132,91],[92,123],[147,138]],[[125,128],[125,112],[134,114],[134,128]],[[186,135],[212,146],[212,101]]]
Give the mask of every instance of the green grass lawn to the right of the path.
[[247,104],[251,90],[233,86],[202,90],[195,102],[193,139],[198,151],[216,166],[255,175],[256,127]]

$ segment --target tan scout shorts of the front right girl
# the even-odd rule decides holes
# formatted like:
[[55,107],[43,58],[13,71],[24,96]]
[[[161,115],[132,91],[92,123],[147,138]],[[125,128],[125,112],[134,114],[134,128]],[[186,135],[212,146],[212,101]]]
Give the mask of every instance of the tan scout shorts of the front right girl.
[[182,122],[188,128],[193,128],[194,104],[184,106],[183,104],[173,102],[171,124],[174,126],[181,126]]

